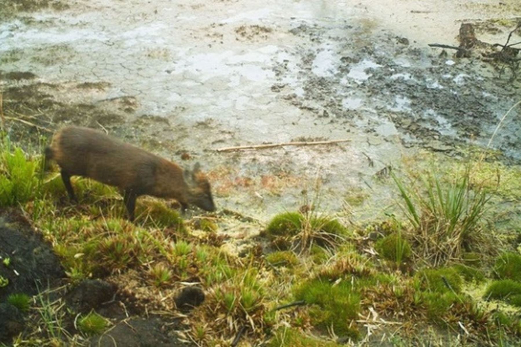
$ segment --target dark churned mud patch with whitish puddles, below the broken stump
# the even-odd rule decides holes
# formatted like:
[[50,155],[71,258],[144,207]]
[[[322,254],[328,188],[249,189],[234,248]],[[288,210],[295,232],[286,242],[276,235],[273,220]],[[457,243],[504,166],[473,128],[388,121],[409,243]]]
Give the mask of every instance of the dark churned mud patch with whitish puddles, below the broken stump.
[[[338,31],[306,24],[290,30],[308,43],[275,65],[279,83],[271,90],[281,100],[346,128],[383,138],[399,134],[405,145],[449,150],[474,139],[486,145],[518,95],[521,81],[508,81],[485,62],[438,57],[388,33],[364,40],[349,25],[343,35]],[[346,39],[356,35],[362,49]],[[333,43],[323,43],[325,36],[334,37]],[[299,82],[287,88],[284,81],[295,74]],[[519,131],[513,114],[495,142],[517,162]]]

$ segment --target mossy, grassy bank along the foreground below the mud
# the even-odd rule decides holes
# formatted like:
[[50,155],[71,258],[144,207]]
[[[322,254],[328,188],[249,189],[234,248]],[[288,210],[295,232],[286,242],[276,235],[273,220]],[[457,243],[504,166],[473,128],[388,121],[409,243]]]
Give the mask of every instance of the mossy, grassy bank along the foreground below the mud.
[[[221,230],[226,214],[185,220],[168,202],[145,198],[130,223],[115,189],[82,178],[73,179],[79,202],[71,204],[41,156],[2,141],[0,207],[21,211],[52,245],[67,285],[107,279],[138,311],[169,317],[179,311],[165,298],[197,283],[205,300],[184,317],[187,341],[507,345],[521,335],[512,309],[521,305],[519,229],[507,225],[500,235],[494,223],[500,201],[519,202],[519,168],[470,161],[395,174],[401,214],[354,226],[311,201],[266,225],[248,222],[261,233],[234,253]],[[15,345],[82,344],[115,323],[77,316],[43,290],[23,294],[7,299],[30,327]],[[69,331],[63,322],[75,316]]]

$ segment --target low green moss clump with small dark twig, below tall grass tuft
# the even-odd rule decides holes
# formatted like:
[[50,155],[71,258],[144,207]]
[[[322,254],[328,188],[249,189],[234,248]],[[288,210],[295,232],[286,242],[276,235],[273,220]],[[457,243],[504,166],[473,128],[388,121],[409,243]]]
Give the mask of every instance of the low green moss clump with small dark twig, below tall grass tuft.
[[463,282],[460,274],[453,267],[424,269],[415,277],[420,290],[438,293],[452,292],[452,290],[459,293]]

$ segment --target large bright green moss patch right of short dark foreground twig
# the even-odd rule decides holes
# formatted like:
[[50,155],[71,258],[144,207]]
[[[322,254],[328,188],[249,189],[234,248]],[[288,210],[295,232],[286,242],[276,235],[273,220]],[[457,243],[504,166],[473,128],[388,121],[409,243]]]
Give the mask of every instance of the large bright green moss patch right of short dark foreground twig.
[[319,279],[307,281],[295,289],[295,299],[313,305],[308,313],[316,327],[323,330],[333,328],[340,336],[357,336],[351,321],[360,311],[360,297],[349,282],[342,281],[333,286]]

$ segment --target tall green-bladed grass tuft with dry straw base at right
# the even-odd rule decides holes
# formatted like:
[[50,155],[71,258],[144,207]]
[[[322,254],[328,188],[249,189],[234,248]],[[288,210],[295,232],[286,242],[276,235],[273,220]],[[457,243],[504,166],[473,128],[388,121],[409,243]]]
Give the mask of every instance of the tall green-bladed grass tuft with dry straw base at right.
[[490,195],[470,182],[470,166],[449,184],[429,174],[420,187],[406,186],[392,174],[413,227],[419,253],[435,266],[461,258],[470,241],[483,236],[481,217]]

